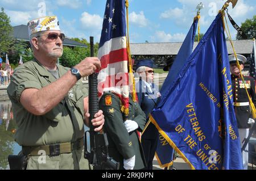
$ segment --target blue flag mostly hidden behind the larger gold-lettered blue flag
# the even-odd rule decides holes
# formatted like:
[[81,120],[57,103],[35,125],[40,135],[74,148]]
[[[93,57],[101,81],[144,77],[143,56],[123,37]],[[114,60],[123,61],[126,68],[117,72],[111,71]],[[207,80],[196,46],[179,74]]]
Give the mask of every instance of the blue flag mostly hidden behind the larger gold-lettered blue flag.
[[[179,52],[177,53],[177,57],[175,58],[175,61],[171,66],[167,78],[163,83],[162,89],[160,90],[161,95],[166,94],[166,91],[168,91],[169,88],[168,85],[170,85],[170,83],[174,81],[180,69],[185,64],[185,61],[191,55],[193,44],[195,41],[197,23],[198,19],[195,18],[193,20],[192,26],[189,29],[187,36],[185,37],[185,40],[183,41],[183,44],[180,47]],[[168,142],[164,139],[164,137],[161,134],[159,134],[158,137],[158,145],[156,147],[155,155],[161,167],[167,167],[168,165],[171,165],[174,159],[174,149],[171,147],[170,144],[168,144]]]

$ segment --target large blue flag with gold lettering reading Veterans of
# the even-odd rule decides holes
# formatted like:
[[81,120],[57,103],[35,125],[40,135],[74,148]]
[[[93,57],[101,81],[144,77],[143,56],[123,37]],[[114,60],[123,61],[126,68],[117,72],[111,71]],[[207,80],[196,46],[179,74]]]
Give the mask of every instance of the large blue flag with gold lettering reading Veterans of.
[[242,169],[221,13],[150,120],[191,169]]

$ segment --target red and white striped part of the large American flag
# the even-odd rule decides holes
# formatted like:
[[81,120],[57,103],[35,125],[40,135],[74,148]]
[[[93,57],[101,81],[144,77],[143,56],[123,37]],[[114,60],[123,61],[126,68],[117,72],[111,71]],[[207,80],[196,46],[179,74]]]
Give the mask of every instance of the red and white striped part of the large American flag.
[[98,71],[98,95],[112,91],[123,105],[129,106],[129,74],[126,37],[116,37],[106,41],[98,50],[101,69]]

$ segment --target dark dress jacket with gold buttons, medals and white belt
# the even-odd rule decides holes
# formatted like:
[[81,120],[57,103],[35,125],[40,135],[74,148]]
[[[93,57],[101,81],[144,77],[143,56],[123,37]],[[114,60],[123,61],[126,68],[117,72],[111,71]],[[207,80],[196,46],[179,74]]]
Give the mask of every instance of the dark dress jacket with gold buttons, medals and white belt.
[[[244,76],[243,79],[245,80],[247,91],[255,106],[256,94],[254,79],[246,76]],[[232,75],[232,89],[234,103],[249,102],[249,98],[241,77]],[[251,118],[250,106],[234,106],[234,110],[236,112],[238,128],[250,128],[250,124],[247,124],[248,119]]]

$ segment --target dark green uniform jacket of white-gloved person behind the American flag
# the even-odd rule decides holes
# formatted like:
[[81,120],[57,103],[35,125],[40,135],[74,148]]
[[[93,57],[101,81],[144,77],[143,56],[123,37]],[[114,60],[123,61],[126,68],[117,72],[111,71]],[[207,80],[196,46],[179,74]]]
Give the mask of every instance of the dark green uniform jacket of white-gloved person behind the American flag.
[[[119,162],[120,169],[123,169],[123,159],[129,159],[135,155],[134,170],[143,169],[145,163],[141,143],[136,130],[128,133],[123,124],[125,119],[121,112],[121,100],[117,95],[105,92],[100,99],[99,108],[105,116],[104,131],[108,136],[110,157]],[[143,131],[146,116],[141,107],[133,102],[131,95],[128,119],[136,121],[139,125],[138,131]]]

